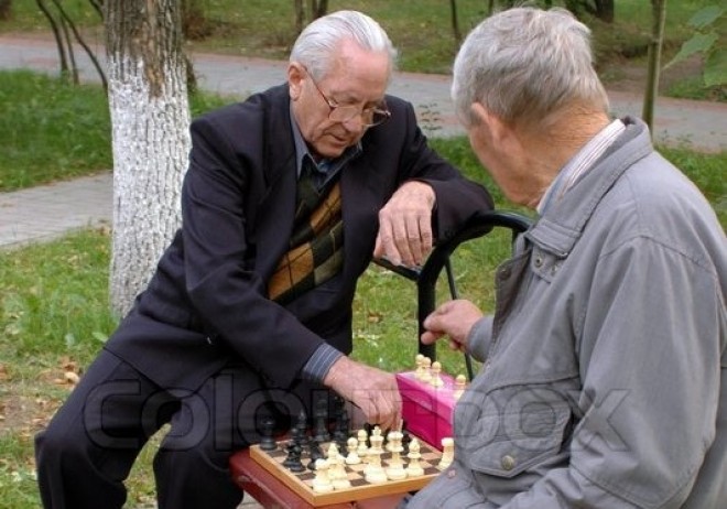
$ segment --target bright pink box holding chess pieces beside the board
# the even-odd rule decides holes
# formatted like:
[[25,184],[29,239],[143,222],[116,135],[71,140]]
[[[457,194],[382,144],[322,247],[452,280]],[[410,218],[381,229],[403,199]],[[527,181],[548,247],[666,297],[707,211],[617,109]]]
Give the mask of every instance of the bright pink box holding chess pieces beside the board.
[[452,436],[454,378],[441,375],[444,385],[433,387],[417,380],[414,371],[397,373],[406,430],[430,445],[442,450],[442,438]]

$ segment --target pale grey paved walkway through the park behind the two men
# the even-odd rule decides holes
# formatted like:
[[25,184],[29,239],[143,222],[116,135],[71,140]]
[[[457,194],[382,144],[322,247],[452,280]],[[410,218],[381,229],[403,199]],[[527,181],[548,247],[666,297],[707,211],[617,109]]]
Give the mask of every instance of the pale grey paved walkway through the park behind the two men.
[[[104,61],[104,51],[94,48]],[[76,58],[82,79],[98,76],[82,48]],[[242,98],[285,78],[285,63],[223,55],[194,55],[199,86]],[[53,41],[0,36],[0,68],[31,68],[56,74],[58,55]],[[423,130],[432,137],[462,134],[452,113],[448,76],[397,73],[390,91],[411,100]],[[618,115],[641,112],[641,98],[610,94]],[[727,105],[659,98],[654,136],[658,142],[686,144],[701,151],[727,150]],[[112,176],[104,173],[14,193],[0,193],[0,248],[56,238],[72,229],[111,224]]]

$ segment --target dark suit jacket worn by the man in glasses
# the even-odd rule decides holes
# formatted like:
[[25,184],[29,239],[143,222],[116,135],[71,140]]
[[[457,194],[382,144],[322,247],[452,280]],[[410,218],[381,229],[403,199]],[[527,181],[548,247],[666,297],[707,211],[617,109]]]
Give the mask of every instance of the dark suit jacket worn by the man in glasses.
[[186,389],[230,360],[286,388],[322,342],[350,353],[356,282],[371,260],[378,212],[397,187],[412,178],[434,187],[440,238],[491,207],[481,186],[426,145],[412,106],[387,102],[391,120],[368,130],[340,176],[343,274],[285,307],[265,295],[295,205],[287,86],[195,120],[183,226],[107,348],[162,387]]

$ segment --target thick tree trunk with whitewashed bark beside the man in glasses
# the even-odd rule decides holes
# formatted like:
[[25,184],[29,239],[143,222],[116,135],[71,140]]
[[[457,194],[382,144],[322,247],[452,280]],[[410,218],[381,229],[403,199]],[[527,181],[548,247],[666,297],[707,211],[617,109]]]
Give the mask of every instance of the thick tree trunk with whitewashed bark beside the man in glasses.
[[113,149],[110,297],[123,315],[181,221],[191,142],[176,0],[106,0]]

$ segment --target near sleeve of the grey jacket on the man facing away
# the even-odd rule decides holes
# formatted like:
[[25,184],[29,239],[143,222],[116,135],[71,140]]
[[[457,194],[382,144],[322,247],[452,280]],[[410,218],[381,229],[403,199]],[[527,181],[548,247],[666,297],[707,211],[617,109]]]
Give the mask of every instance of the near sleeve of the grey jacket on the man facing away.
[[601,257],[592,294],[569,465],[503,508],[679,508],[715,440],[726,317],[714,268],[637,237]]

